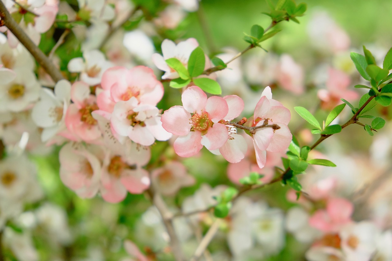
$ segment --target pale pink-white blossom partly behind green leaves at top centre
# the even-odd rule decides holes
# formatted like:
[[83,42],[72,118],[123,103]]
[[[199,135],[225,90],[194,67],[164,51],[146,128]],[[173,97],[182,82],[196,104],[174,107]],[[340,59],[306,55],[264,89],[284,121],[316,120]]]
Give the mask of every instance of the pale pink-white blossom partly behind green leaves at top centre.
[[162,76],[162,79],[175,79],[180,77],[178,72],[174,71],[169,67],[169,65],[167,65],[165,60],[169,58],[177,58],[185,66],[185,68],[187,68],[189,56],[191,56],[192,51],[198,46],[199,44],[195,38],[189,38],[186,41],[178,43],[177,45],[171,40],[163,40],[163,56],[158,53],[152,54],[152,61],[155,63],[156,67],[165,72],[165,74]]

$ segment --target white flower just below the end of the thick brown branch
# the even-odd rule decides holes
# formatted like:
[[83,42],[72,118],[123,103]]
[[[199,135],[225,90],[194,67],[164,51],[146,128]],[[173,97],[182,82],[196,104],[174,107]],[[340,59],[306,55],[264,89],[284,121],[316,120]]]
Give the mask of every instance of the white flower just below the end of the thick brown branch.
[[65,129],[64,116],[71,102],[71,83],[60,80],[54,86],[54,94],[53,91],[42,88],[40,98],[31,117],[39,127],[44,128],[41,139],[45,142]]

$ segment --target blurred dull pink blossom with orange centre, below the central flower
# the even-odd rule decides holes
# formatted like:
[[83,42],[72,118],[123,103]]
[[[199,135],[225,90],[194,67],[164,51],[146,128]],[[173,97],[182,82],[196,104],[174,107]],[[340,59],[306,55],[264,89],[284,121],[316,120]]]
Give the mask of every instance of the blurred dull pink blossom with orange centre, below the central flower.
[[163,195],[173,195],[181,187],[195,183],[195,179],[187,173],[187,169],[178,161],[172,161],[151,172],[152,184]]

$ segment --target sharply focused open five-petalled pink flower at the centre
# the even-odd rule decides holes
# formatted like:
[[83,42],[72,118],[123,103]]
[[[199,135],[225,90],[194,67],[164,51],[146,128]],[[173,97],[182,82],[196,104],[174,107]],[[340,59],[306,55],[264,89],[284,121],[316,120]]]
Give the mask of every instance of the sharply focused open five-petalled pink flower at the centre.
[[183,106],[173,106],[162,115],[162,127],[174,135],[174,151],[181,157],[198,153],[203,145],[209,150],[222,147],[229,138],[224,123],[229,112],[227,101],[207,95],[197,86],[186,89],[181,97]]

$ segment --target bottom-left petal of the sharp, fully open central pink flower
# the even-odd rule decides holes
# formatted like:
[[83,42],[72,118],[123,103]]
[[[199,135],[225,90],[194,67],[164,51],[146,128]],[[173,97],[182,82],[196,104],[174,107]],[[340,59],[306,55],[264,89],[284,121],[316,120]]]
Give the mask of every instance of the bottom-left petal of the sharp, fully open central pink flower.
[[201,133],[191,131],[186,136],[180,136],[174,141],[174,151],[181,157],[191,157],[198,153],[201,145]]

